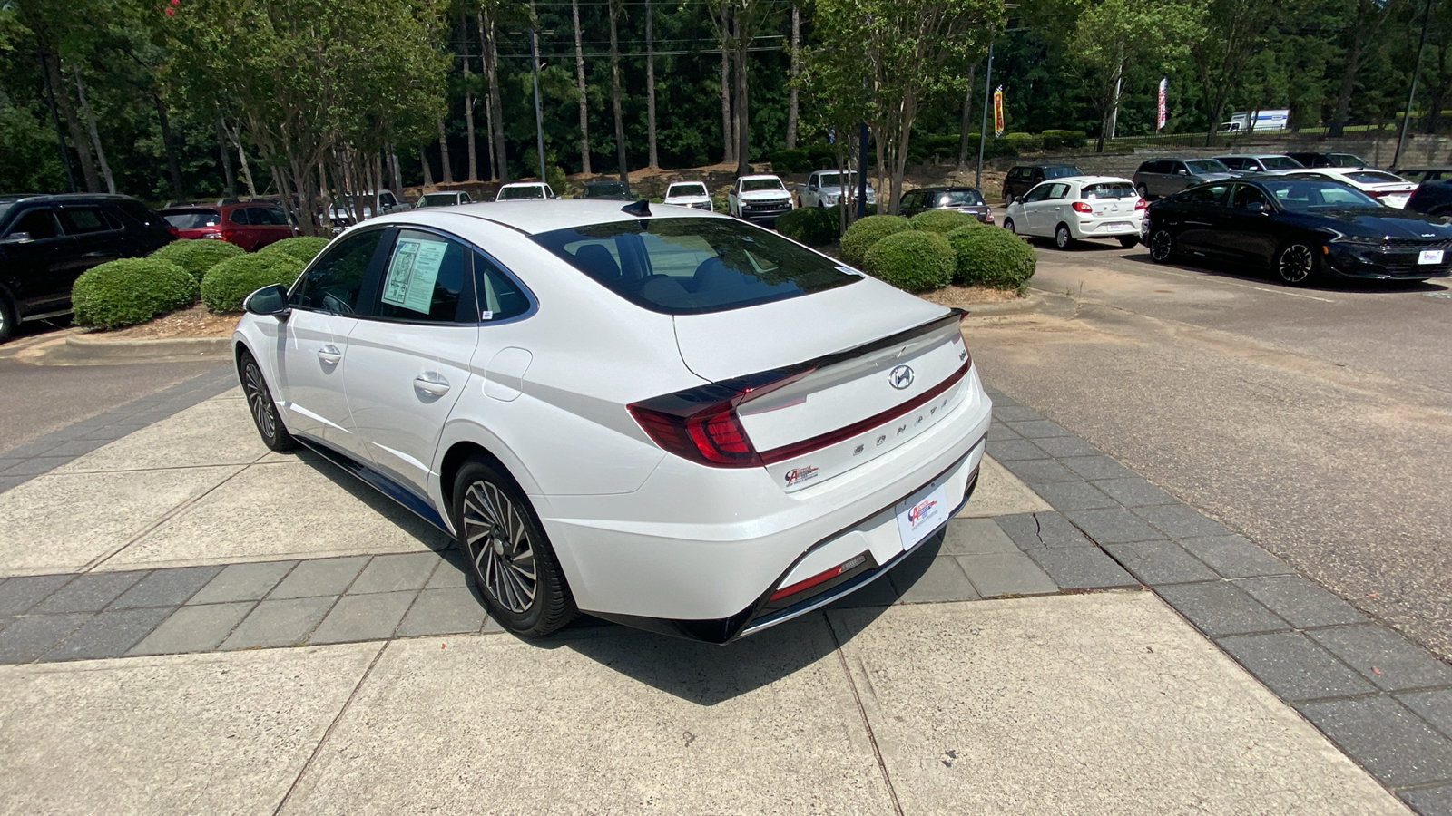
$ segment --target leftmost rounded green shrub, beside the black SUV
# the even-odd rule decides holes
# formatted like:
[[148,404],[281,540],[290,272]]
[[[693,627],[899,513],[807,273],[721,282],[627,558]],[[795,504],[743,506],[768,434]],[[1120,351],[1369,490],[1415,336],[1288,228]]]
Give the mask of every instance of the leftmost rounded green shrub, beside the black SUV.
[[195,302],[196,279],[155,257],[103,263],[81,273],[71,287],[76,324],[100,328],[136,325]]

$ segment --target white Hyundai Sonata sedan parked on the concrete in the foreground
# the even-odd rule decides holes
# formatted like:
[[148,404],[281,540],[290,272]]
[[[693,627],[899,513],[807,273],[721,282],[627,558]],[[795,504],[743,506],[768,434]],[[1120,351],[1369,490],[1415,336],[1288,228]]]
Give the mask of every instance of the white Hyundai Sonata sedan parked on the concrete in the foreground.
[[646,202],[348,229],[234,335],[263,440],[456,536],[489,613],[725,643],[881,576],[977,482],[960,312]]

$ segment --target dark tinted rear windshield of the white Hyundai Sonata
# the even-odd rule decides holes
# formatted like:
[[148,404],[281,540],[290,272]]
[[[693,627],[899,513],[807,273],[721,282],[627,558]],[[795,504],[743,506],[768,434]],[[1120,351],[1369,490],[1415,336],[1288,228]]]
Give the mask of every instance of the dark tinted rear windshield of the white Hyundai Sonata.
[[725,312],[861,280],[775,232],[725,218],[649,218],[534,235],[569,266],[637,306]]

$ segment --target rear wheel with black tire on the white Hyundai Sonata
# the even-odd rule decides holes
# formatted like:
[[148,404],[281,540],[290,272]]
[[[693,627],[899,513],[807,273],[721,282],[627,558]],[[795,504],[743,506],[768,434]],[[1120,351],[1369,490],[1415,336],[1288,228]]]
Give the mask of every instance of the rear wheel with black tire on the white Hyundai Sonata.
[[454,475],[453,523],[484,605],[499,626],[543,637],[579,614],[524,491],[482,456]]

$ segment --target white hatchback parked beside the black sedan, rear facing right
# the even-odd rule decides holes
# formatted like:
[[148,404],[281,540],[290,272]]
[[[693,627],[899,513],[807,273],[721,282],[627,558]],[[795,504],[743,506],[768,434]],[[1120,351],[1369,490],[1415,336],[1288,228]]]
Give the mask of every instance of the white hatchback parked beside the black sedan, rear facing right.
[[1018,235],[1053,238],[1060,250],[1086,238],[1115,238],[1130,248],[1140,242],[1144,206],[1128,179],[1069,176],[1044,181],[1008,205],[1003,228]]

